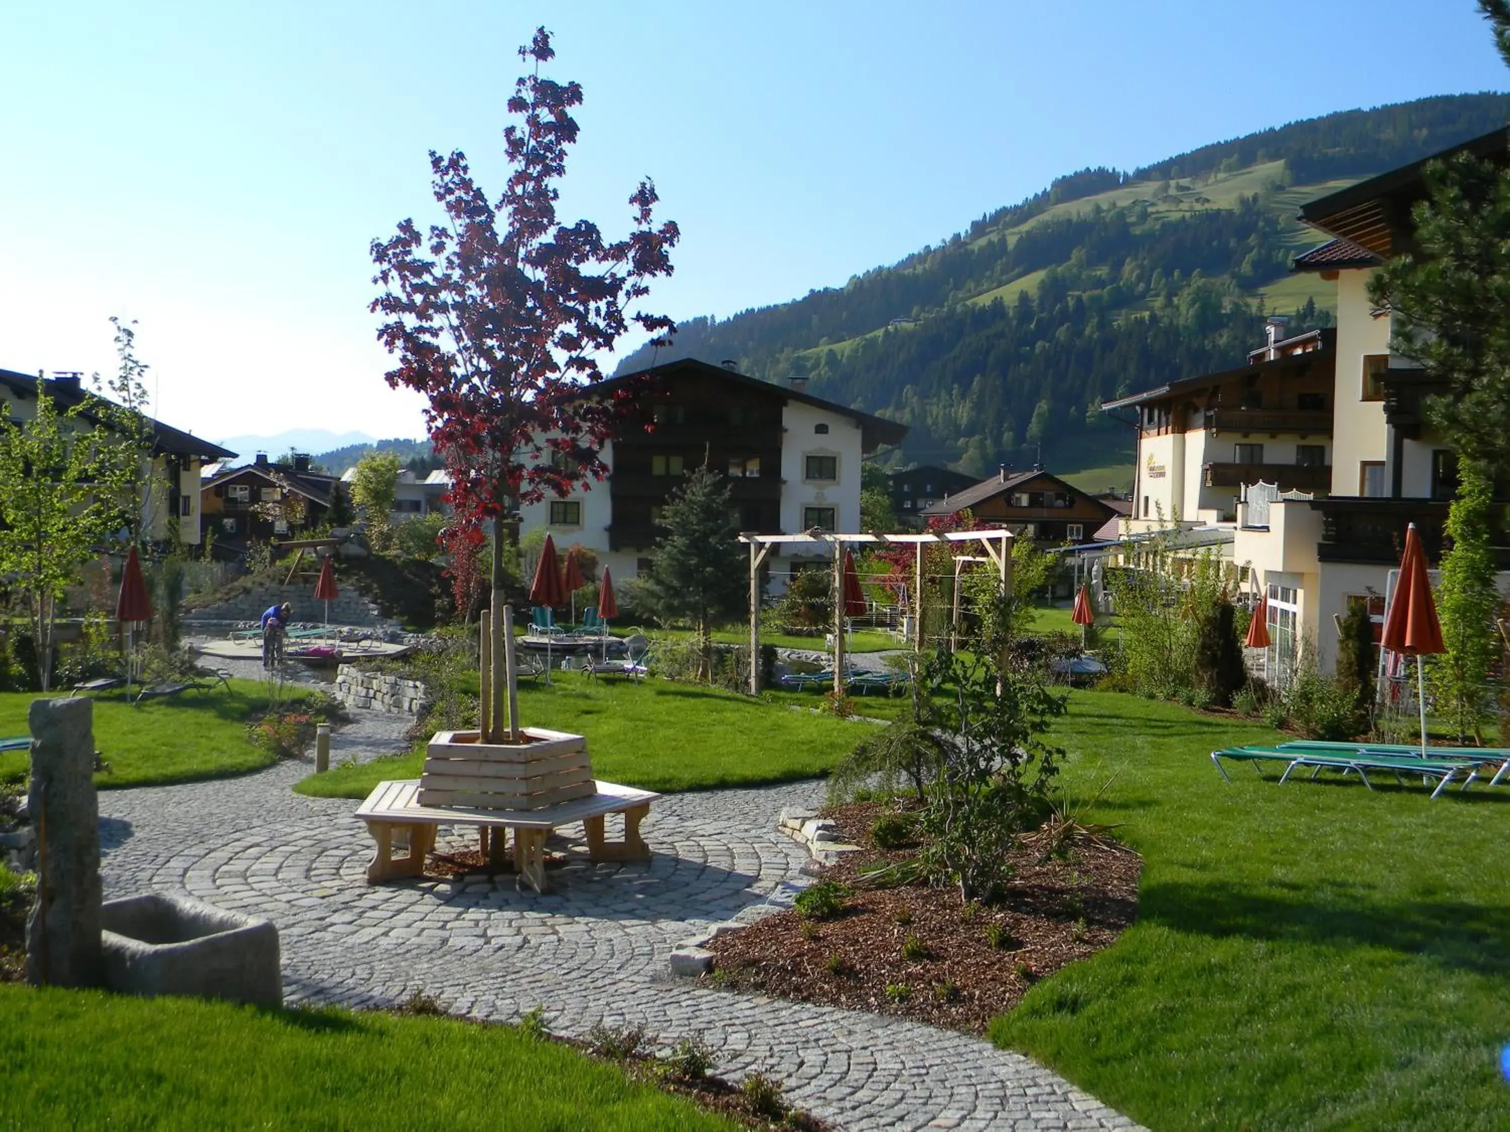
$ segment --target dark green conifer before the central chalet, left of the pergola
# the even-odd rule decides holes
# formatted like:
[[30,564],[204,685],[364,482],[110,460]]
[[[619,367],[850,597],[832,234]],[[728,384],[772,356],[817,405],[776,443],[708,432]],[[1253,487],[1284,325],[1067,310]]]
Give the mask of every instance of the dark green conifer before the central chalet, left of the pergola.
[[707,675],[710,629],[740,607],[749,586],[728,481],[707,465],[698,468],[666,501],[661,524],[667,534],[651,551],[642,593],[661,620],[693,623]]

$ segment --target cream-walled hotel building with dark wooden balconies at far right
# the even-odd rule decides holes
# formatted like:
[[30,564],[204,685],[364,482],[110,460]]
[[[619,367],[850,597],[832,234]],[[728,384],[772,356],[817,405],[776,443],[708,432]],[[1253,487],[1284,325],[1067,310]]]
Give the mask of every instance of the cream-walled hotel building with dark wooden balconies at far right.
[[[1504,160],[1507,134],[1450,152]],[[1392,314],[1368,299],[1379,267],[1416,251],[1410,208],[1425,195],[1424,165],[1302,210],[1332,237],[1294,266],[1336,284],[1335,332],[1271,341],[1246,368],[1107,406],[1139,412],[1139,478],[1125,531],[1136,536],[1163,518],[1225,533],[1234,575],[1253,599],[1268,601],[1271,673],[1293,670],[1306,649],[1330,672],[1338,622],[1353,604],[1383,620],[1409,524],[1433,564],[1442,552],[1457,457],[1424,412],[1424,398],[1442,389],[1391,355]],[[1267,486],[1255,491],[1258,483]],[[1496,545],[1501,568],[1510,566],[1504,531]],[[1510,574],[1499,575],[1499,589],[1510,590]]]

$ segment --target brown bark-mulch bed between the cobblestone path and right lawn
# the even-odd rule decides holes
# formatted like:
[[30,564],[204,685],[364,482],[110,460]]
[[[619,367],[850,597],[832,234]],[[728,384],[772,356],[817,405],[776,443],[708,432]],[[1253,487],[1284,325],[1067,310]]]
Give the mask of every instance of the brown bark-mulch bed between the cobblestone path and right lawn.
[[1046,832],[1036,844],[1027,839],[1012,853],[1012,884],[991,906],[965,907],[957,889],[921,883],[862,887],[859,872],[911,856],[870,836],[871,823],[892,811],[889,801],[824,811],[841,839],[864,850],[823,871],[823,880],[852,889],[843,912],[826,921],[779,912],[719,936],[708,943],[717,955],[711,978],[980,1034],[1034,981],[1108,946],[1137,918],[1143,859],[1084,835],[1048,856]]

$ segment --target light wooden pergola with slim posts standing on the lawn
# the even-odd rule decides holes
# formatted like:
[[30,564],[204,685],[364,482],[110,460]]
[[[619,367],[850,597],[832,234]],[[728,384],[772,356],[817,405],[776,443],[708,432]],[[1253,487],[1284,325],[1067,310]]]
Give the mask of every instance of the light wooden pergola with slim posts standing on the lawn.
[[[808,531],[806,534],[741,534],[740,542],[750,548],[750,694],[760,693],[760,568],[766,564],[775,546],[830,546],[834,555],[834,691],[844,694],[844,549],[850,543],[911,543],[912,554],[912,648],[923,648],[923,548],[929,543],[978,543],[986,557],[954,554],[954,580],[966,561],[989,561],[997,568],[1001,592],[1012,593],[1012,531],[995,528],[986,531],[948,531],[945,534],[837,534],[830,531]],[[956,602],[954,617],[957,620]]]

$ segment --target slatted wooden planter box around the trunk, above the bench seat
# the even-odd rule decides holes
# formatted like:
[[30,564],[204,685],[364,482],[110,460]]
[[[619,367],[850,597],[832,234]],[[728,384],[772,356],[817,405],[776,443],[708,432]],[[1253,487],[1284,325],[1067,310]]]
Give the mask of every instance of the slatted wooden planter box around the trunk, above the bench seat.
[[525,743],[482,743],[476,731],[439,731],[424,755],[421,806],[536,811],[596,792],[587,740],[524,727]]

